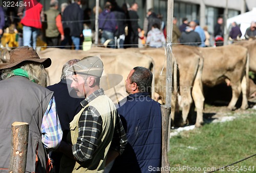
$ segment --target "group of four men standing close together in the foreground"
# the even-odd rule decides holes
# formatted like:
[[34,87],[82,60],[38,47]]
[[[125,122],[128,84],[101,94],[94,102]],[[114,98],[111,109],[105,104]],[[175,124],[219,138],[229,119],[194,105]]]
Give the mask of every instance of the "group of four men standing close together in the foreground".
[[0,93],[6,98],[0,109],[5,115],[0,117],[1,172],[11,164],[14,121],[29,124],[26,172],[150,172],[149,166],[161,167],[161,109],[150,97],[150,69],[131,69],[125,81],[128,96],[115,105],[103,90],[101,80],[108,77],[100,57],[68,61],[60,82],[45,87],[44,69],[50,65],[50,58],[40,58],[30,46],[14,48],[10,62],[0,64]]

